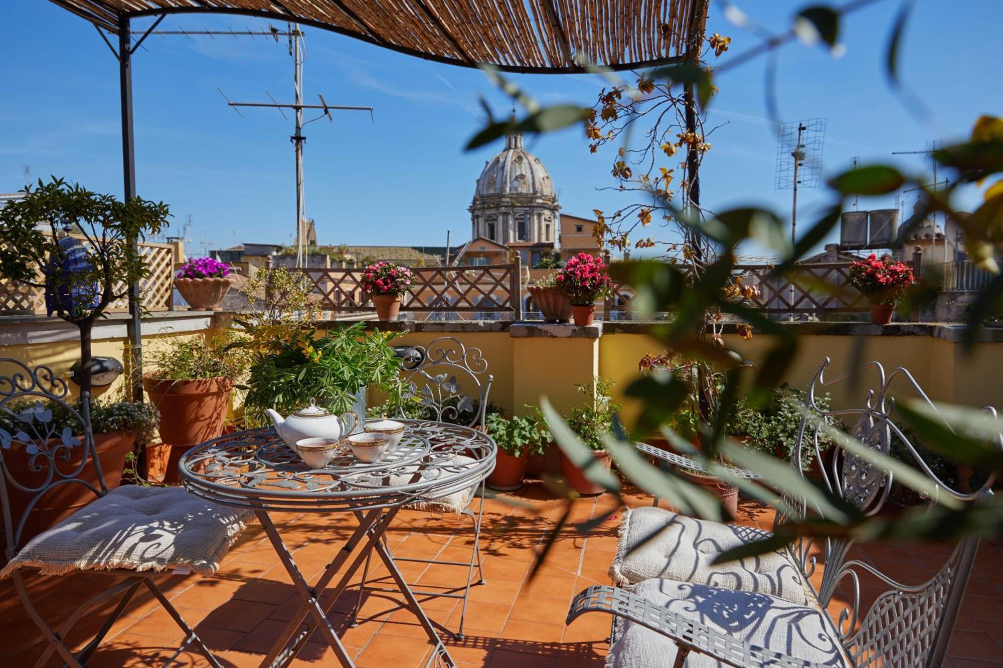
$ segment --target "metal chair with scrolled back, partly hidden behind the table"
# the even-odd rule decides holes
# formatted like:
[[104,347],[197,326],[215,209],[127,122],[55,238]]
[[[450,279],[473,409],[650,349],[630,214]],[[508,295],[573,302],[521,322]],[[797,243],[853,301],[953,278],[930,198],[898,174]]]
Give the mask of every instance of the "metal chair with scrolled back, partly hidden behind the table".
[[[469,427],[483,426],[487,410],[487,396],[494,376],[487,373],[487,360],[483,358],[479,348],[467,348],[458,339],[443,336],[431,341],[427,347],[414,346],[403,352],[404,368],[401,381],[404,391],[401,406],[397,411],[398,417],[412,419],[423,417]],[[469,417],[464,418],[466,415]],[[462,458],[459,457],[460,460]],[[473,545],[470,549],[468,562],[395,557],[398,562],[439,564],[466,569],[460,584],[455,588],[443,588],[441,591],[414,590],[415,594],[425,597],[462,599],[459,625],[455,633],[457,638],[463,637],[463,622],[466,618],[466,604],[470,595],[470,587],[474,584],[482,585],[484,583],[484,574],[480,565],[480,521],[483,516],[483,490],[484,483],[481,482],[474,487],[453,492],[442,498],[425,498],[404,507],[411,510],[455,514],[469,518],[473,526]],[[481,499],[476,512],[470,509],[475,496],[479,496]],[[367,580],[368,571],[369,560],[367,559],[362,571],[362,582],[359,585],[359,596],[356,600],[353,616],[358,614],[365,590],[396,591],[392,588],[370,586]],[[474,583],[474,572],[477,574],[476,583]]]

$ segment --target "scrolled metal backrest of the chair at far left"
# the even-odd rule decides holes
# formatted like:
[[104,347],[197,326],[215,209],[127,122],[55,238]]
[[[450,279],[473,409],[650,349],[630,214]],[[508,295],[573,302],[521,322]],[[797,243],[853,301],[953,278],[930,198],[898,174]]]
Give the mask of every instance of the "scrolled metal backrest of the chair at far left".
[[[8,369],[9,375],[2,375]],[[74,485],[94,498],[108,491],[94,447],[89,396],[81,396],[79,406],[68,396],[68,384],[49,367],[0,359],[0,503],[8,561],[23,547],[28,518],[40,512],[43,499],[59,500]],[[65,412],[67,423],[57,424],[53,409]]]

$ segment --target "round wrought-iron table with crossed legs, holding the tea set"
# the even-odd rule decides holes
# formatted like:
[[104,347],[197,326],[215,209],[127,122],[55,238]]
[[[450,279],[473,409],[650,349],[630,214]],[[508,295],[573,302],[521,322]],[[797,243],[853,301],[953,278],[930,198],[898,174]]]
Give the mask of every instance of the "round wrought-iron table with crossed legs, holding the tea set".
[[[494,468],[497,450],[489,436],[470,427],[400,421],[407,425],[400,444],[374,463],[359,461],[345,447],[324,468],[311,469],[271,427],[215,438],[182,457],[181,476],[190,492],[254,512],[303,600],[261,666],[288,665],[317,629],[342,666],[354,665],[328,615],[373,551],[434,646],[426,665],[455,665],[380,537],[401,507],[478,484]],[[359,526],[311,585],[293,561],[271,513],[351,513]],[[304,621],[306,628],[301,629]]]

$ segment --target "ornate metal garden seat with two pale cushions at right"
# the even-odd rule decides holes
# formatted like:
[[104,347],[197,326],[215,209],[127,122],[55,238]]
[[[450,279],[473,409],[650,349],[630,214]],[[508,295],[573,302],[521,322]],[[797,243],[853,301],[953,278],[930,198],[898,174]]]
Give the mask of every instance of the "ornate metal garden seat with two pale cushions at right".
[[[902,378],[912,393],[933,402],[904,368],[886,375],[877,362],[833,380],[824,379],[826,358],[812,378],[793,448],[792,469],[803,475],[801,446],[806,444],[822,463],[817,425],[807,414],[849,416],[853,435],[884,453],[901,442],[918,468],[937,486],[938,494],[968,503],[992,493],[993,479],[965,493],[944,483],[920,451],[893,422],[895,400],[889,386]],[[821,410],[816,392],[873,369],[877,388],[863,407]],[[853,387],[853,385],[851,385]],[[987,409],[995,415],[995,410]],[[997,446],[1000,441],[997,440]],[[824,484],[868,515],[881,511],[892,487],[890,471],[849,454],[835,445],[835,455],[821,466]],[[803,517],[803,499],[784,497]],[[777,514],[776,524],[787,518]],[[852,542],[825,539],[817,548],[824,564],[817,587],[811,583],[816,558],[813,540],[788,548],[711,566],[713,558],[733,547],[769,536],[767,532],[684,518],[656,508],[625,515],[611,575],[623,588],[594,586],[572,603],[571,623],[586,612],[615,616],[611,668],[655,666],[940,666],[954,628],[961,598],[978,550],[978,538],[958,544],[942,568],[920,584],[897,582],[874,566],[849,559]],[[661,563],[658,563],[658,559]],[[894,574],[893,574],[894,575]],[[862,581],[881,593],[861,615]],[[877,584],[874,584],[877,583]],[[826,610],[837,590],[849,589],[848,608],[838,619]]]

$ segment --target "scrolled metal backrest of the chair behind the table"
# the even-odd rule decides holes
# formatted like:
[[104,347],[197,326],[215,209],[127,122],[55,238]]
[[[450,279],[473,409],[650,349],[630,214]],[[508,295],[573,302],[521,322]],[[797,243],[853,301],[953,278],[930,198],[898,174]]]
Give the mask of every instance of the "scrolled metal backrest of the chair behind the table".
[[[409,359],[417,362],[409,364]],[[459,339],[443,336],[427,347],[413,346],[401,372],[403,391],[397,414],[482,425],[493,380],[480,349],[467,348]]]

